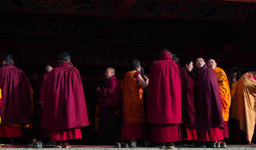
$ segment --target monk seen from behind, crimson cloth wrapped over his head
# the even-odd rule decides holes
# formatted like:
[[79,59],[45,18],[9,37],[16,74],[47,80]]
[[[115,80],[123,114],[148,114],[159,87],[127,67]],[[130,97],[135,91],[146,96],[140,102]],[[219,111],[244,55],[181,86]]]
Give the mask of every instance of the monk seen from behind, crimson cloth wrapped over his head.
[[148,83],[148,120],[151,140],[157,148],[174,148],[181,140],[181,87],[178,65],[164,49],[151,67]]

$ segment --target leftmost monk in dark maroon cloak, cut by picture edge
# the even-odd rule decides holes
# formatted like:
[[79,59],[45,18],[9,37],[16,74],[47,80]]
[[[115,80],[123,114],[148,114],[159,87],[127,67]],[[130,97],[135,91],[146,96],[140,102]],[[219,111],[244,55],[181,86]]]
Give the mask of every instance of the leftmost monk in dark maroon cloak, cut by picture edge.
[[[0,137],[10,138],[10,144],[16,145],[14,138],[23,136],[20,127],[31,122],[31,98],[28,77],[13,65],[12,55],[3,57],[0,88],[3,95]],[[3,139],[0,139],[0,143],[3,143]]]

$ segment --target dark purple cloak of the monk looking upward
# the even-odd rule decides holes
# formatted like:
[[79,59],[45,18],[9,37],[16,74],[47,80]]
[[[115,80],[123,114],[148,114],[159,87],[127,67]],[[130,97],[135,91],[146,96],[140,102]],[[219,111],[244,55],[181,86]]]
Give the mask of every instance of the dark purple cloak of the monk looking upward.
[[220,90],[215,72],[204,65],[194,84],[195,123],[197,134],[224,125]]

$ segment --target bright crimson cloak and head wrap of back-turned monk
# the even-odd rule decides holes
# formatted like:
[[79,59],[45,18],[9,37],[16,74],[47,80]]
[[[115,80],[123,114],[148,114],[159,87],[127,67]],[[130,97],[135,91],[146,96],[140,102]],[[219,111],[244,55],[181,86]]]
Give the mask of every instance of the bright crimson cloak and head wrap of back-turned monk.
[[148,122],[180,123],[181,86],[179,68],[168,52],[151,67],[148,82]]

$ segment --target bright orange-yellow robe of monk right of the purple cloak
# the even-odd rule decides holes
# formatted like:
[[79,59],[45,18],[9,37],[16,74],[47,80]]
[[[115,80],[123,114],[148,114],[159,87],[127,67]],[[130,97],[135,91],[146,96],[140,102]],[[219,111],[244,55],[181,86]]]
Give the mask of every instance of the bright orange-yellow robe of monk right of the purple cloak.
[[213,71],[215,72],[215,74],[217,76],[218,85],[219,85],[219,89],[220,89],[223,120],[228,121],[229,107],[230,107],[230,103],[231,103],[228,79],[227,79],[227,76],[226,76],[224,70],[220,69],[219,67],[216,67]]

